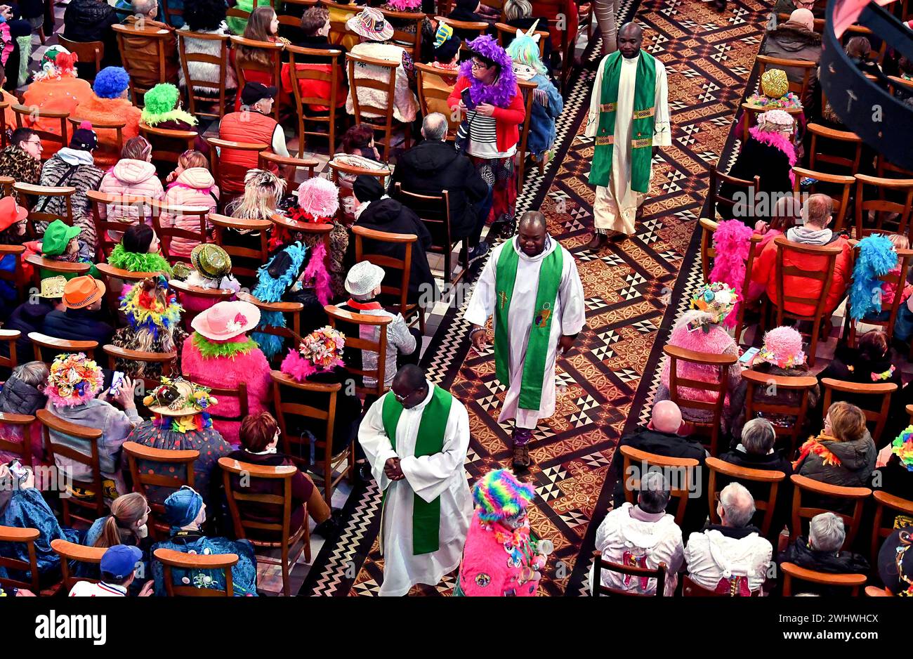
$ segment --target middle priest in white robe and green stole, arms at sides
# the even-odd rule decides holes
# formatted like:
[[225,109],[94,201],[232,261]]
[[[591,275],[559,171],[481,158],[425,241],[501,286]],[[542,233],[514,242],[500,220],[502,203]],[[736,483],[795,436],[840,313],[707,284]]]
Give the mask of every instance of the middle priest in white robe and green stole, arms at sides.
[[513,465],[530,466],[527,446],[541,418],[555,412],[558,349],[571,350],[583,329],[583,287],[573,256],[546,231],[545,216],[520,218],[518,235],[492,250],[465,318],[481,354],[494,316],[495,371],[507,388],[498,423],[515,420]]

